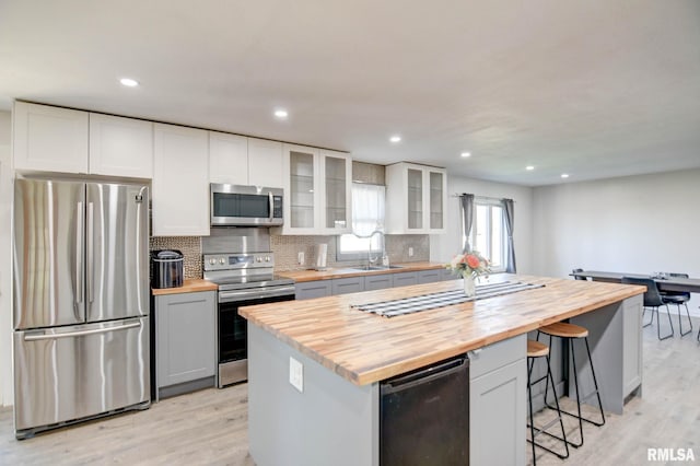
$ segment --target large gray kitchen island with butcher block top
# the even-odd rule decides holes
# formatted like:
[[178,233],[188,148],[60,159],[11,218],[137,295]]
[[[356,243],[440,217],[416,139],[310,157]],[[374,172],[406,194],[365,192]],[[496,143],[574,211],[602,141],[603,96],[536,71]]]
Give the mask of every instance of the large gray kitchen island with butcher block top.
[[[380,383],[470,351],[471,464],[493,453],[489,432],[509,429],[513,435],[498,435],[495,444],[513,455],[512,463],[523,464],[525,334],[562,319],[586,321],[596,372],[605,381],[604,405],[621,412],[625,398],[641,387],[644,288],[532,276],[490,280],[544,287],[392,318],[354,306],[458,290],[462,280],[243,307],[248,321],[249,448],[256,464],[377,465]],[[502,360],[495,368],[514,374],[503,382],[510,389],[500,395],[512,399],[499,400],[513,407],[499,410],[511,416],[511,426],[498,418],[479,419],[474,409],[480,406],[475,395],[488,392],[474,389],[489,369],[480,366],[480,358]],[[303,368],[301,392],[290,384],[292,359]],[[485,424],[475,429],[475,422]],[[475,435],[487,442],[475,442]]]

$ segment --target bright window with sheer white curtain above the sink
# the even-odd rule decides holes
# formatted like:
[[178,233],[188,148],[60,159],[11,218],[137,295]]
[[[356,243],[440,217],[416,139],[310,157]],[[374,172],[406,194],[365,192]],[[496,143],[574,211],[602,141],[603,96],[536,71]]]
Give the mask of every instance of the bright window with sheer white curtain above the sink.
[[366,259],[368,254],[384,252],[385,187],[378,185],[352,184],[352,231],[353,234],[338,236],[337,260]]

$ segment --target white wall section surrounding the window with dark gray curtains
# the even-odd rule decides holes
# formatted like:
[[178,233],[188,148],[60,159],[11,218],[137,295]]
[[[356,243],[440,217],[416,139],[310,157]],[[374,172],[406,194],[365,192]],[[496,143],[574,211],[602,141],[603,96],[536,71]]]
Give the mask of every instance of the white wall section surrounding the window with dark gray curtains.
[[515,264],[518,273],[532,273],[532,211],[533,189],[524,186],[505,185],[482,179],[447,175],[447,233],[430,236],[430,259],[447,263],[462,252],[462,217],[459,199],[455,194],[469,193],[476,196],[509,198],[515,201],[514,233]]

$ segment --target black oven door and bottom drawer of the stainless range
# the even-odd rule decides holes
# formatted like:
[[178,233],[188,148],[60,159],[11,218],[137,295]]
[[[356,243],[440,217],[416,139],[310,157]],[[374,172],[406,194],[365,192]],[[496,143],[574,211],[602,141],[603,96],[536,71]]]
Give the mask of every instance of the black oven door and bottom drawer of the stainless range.
[[[220,292],[220,296],[222,294]],[[293,300],[294,292],[292,291],[292,294],[278,296],[256,296],[219,302],[219,388],[248,380],[247,321],[238,315],[238,307]]]

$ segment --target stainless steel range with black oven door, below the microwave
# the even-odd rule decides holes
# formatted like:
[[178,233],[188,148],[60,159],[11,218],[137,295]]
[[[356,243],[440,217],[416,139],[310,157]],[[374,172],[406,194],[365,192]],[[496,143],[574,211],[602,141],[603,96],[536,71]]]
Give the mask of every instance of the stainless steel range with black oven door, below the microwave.
[[205,279],[219,286],[218,385],[248,378],[247,322],[238,307],[294,299],[294,281],[275,276],[267,229],[212,229],[202,238]]

